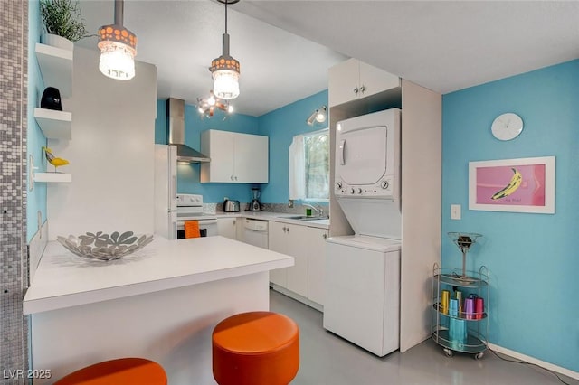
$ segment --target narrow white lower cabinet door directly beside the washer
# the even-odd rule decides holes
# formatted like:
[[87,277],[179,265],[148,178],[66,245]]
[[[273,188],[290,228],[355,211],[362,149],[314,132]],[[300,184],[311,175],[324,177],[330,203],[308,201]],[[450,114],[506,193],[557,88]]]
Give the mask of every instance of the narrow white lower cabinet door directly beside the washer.
[[308,228],[308,299],[324,305],[326,229]]

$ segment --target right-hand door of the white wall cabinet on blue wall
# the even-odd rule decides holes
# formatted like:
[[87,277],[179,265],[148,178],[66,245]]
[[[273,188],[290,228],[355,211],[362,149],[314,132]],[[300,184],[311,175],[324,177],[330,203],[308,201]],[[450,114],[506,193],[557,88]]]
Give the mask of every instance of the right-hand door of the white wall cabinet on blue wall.
[[235,182],[268,183],[268,137],[237,134],[235,137]]

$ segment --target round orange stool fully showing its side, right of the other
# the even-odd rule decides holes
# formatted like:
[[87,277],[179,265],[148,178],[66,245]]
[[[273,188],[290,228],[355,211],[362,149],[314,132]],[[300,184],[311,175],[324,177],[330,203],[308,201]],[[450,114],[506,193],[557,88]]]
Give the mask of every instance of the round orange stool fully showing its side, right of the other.
[[299,329],[271,312],[232,315],[213,333],[214,379],[220,385],[288,385],[299,369]]

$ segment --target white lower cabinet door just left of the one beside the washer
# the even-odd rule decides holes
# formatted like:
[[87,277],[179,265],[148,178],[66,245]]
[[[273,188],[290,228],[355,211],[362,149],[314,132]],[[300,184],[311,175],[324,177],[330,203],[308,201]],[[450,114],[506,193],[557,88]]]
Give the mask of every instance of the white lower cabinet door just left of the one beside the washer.
[[299,296],[308,297],[308,249],[307,226],[287,225],[288,255],[295,259],[294,266],[288,269],[287,288]]

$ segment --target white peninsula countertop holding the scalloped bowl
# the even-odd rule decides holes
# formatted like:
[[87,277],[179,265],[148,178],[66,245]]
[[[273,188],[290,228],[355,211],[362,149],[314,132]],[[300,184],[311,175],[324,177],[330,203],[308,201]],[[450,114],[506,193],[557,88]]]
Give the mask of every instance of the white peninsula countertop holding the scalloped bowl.
[[51,241],[24,296],[23,310],[29,315],[293,264],[294,258],[287,255],[224,237],[167,240],[156,236],[134,254],[108,262],[78,257]]

